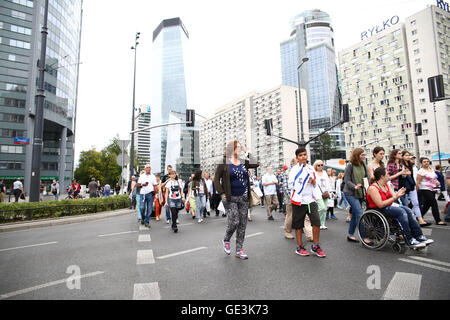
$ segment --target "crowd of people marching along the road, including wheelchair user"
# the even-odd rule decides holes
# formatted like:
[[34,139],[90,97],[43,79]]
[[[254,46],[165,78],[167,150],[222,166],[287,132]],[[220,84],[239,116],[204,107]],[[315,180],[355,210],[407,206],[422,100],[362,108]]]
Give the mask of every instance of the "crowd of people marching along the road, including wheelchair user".
[[[175,233],[180,210],[184,209],[199,224],[211,213],[222,214],[227,218],[223,250],[231,254],[230,240],[236,233],[235,256],[241,259],[248,259],[244,251],[245,230],[247,223],[253,221],[253,209],[259,205],[265,208],[268,221],[275,220],[277,210],[283,214],[284,237],[296,239],[295,252],[301,256],[310,253],[326,256],[319,243],[320,233],[328,229],[327,220],[338,220],[335,208],[346,211],[349,242],[360,241],[355,232],[364,210],[377,208],[399,221],[408,246],[418,248],[431,244],[433,240],[421,231],[431,223],[423,217],[431,208],[435,223],[446,225],[440,219],[436,193],[448,203],[445,184],[450,185],[450,172],[444,181],[442,168],[437,166],[433,170],[425,157],[419,159],[419,167],[415,156],[406,150],[391,150],[386,164],[382,147],[375,147],[372,155],[373,159],[367,161],[365,151],[356,148],[344,172],[337,174],[335,169],[325,168],[322,160],[310,165],[306,149],[300,147],[289,166],[276,169],[276,174],[269,166],[266,172],[256,176],[254,170],[260,164],[245,146],[232,141],[227,144],[223,162],[213,175],[197,170],[189,181],[184,181],[169,165],[161,178],[153,175],[151,166],[146,165],[128,186],[130,207],[137,208],[138,221],[148,228],[152,214],[160,221],[165,212],[166,223]],[[450,221],[448,205],[444,220]],[[312,242],[311,251],[305,248],[303,233],[306,241]],[[361,241],[370,243],[364,230],[360,230],[360,235]]]

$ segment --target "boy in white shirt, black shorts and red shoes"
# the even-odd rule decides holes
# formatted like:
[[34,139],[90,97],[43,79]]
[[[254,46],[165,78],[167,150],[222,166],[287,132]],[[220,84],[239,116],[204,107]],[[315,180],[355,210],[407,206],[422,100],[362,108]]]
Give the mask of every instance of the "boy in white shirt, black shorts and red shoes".
[[311,220],[313,229],[312,252],[318,257],[326,257],[325,252],[319,246],[320,235],[320,217],[319,208],[314,196],[316,186],[316,174],[314,168],[307,164],[308,155],[304,147],[299,147],[295,151],[295,157],[298,163],[289,173],[289,189],[291,191],[290,201],[292,203],[292,229],[295,230],[297,239],[297,249],[295,253],[301,256],[309,256],[302,244],[302,229],[305,223],[306,215]]

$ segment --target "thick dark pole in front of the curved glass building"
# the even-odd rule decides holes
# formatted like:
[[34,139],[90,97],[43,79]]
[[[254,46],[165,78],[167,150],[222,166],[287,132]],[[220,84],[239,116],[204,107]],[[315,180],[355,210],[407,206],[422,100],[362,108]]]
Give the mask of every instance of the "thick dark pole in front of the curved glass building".
[[36,89],[36,112],[34,115],[33,152],[31,158],[30,202],[39,202],[41,185],[41,161],[44,136],[44,100],[45,100],[45,57],[47,54],[48,0],[44,2],[44,21],[41,29],[41,57],[38,61],[39,78]]

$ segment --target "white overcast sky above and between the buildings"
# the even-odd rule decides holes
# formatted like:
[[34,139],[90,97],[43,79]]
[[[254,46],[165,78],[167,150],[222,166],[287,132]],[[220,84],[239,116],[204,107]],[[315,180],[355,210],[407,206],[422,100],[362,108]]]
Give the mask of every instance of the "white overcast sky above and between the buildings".
[[280,42],[295,15],[321,9],[331,16],[337,58],[362,31],[394,15],[403,22],[430,4],[436,1],[84,0],[76,161],[116,135],[129,139],[137,31],[136,105],[151,104],[152,34],[164,19],[180,17],[189,32],[188,107],[209,117],[248,92],[281,84]]

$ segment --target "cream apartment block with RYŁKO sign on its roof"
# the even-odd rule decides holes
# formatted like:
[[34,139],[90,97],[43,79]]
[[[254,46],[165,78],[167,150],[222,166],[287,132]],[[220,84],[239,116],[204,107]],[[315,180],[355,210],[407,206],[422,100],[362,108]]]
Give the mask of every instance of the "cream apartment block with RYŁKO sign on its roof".
[[[396,16],[394,16],[396,17]],[[397,17],[398,18],[398,17]],[[427,79],[442,74],[449,90],[450,14],[429,6],[339,53],[344,103],[350,107],[345,126],[349,150],[374,146],[407,149],[418,156],[450,153],[450,105],[429,102]],[[422,124],[417,137],[415,125]]]

